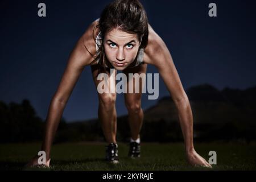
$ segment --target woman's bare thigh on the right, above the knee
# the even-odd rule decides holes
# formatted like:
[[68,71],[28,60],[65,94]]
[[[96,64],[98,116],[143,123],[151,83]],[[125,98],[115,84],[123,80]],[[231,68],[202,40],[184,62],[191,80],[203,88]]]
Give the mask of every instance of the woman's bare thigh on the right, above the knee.
[[[138,102],[141,101],[141,96],[142,96],[142,86],[144,85],[144,83],[142,82],[142,79],[139,79],[139,84],[135,84],[135,79],[128,79],[129,78],[129,73],[138,73],[139,75],[141,73],[145,73],[146,74],[147,71],[147,64],[141,64],[138,65],[137,67],[134,68],[127,68],[125,70],[123,70],[123,73],[125,73],[126,77],[127,77],[127,83],[126,83],[126,88],[127,90],[129,90],[129,82],[133,82],[133,93],[129,93],[127,91],[127,93],[125,93],[125,102],[126,104],[130,104],[133,102]],[[137,87],[139,86],[139,93],[135,93],[135,89],[137,89]]]

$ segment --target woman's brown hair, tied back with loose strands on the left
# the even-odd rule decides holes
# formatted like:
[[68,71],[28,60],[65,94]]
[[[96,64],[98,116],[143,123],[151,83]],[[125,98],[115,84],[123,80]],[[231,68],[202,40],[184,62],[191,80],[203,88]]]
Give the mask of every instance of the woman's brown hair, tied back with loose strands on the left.
[[[148,42],[148,19],[146,11],[138,0],[115,0],[105,7],[102,11],[98,25],[101,32],[101,45],[98,45],[96,60],[106,71],[106,55],[103,46],[105,34],[113,28],[119,28],[129,34],[137,34],[141,46],[145,48]],[[94,36],[93,36],[94,37]],[[94,38],[96,40],[96,38]],[[96,42],[97,43],[97,42]]]

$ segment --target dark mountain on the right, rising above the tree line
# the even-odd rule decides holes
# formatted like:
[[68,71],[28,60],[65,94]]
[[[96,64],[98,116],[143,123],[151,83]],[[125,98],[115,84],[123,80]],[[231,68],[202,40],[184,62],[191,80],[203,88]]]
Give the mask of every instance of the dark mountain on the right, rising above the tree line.
[[[203,84],[192,86],[185,92],[195,123],[255,121],[256,115],[253,110],[255,111],[256,87],[246,90],[218,90],[212,85]],[[146,121],[177,121],[177,117],[176,106],[171,97],[163,97],[156,105],[144,111]]]

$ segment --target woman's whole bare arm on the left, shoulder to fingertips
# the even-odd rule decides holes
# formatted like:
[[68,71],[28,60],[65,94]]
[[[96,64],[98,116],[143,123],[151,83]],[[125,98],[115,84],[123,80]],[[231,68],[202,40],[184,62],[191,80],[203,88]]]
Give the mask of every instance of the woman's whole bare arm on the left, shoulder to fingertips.
[[[67,104],[84,67],[94,60],[96,47],[93,39],[93,29],[96,26],[96,23],[96,21],[91,23],[85,33],[77,41],[76,46],[69,55],[67,66],[49,105],[41,148],[42,151],[46,152],[47,161],[50,159],[51,145],[63,115],[65,105]],[[35,166],[37,164],[38,161],[36,156],[27,166]],[[49,166],[49,164],[47,164],[47,166]]]

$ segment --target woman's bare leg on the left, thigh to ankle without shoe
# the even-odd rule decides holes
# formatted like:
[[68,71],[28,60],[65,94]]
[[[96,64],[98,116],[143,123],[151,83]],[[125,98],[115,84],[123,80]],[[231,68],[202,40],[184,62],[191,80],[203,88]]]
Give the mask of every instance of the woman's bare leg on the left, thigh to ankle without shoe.
[[[96,85],[96,89],[98,84],[101,82],[101,80],[97,80],[97,75],[100,73],[100,66],[99,65],[92,65],[92,75],[94,84]],[[109,76],[109,80],[107,81],[107,84],[110,87],[110,71],[107,70],[106,72]],[[116,71],[115,71],[116,73]],[[115,79],[111,80],[112,82]],[[115,84],[113,84],[115,86]],[[117,143],[115,140],[116,133],[117,133],[117,113],[115,110],[115,99],[116,99],[116,93],[98,93],[98,100],[99,100],[99,106],[98,106],[98,118],[101,122],[102,131],[104,133],[106,142],[108,143]]]

